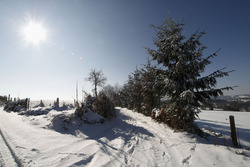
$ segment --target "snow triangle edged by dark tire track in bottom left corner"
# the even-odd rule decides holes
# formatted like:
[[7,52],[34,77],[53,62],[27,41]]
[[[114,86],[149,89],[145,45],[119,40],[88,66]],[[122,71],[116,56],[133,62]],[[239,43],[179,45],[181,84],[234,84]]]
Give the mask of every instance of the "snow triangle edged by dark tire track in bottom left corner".
[[0,129],[0,158],[1,158],[1,165],[2,166],[18,166],[23,167],[21,161],[16,156],[13,149],[10,147],[9,143],[7,142],[6,138],[4,137],[1,129]]

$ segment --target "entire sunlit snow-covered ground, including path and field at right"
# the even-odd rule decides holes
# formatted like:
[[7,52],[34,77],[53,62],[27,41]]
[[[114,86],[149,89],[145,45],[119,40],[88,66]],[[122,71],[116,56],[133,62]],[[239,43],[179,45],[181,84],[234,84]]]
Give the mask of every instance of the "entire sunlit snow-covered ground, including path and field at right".
[[[173,132],[150,117],[123,108],[117,108],[117,117],[104,124],[72,124],[67,130],[60,124],[51,124],[56,115],[72,113],[74,110],[50,110],[45,115],[24,116],[7,113],[1,107],[0,130],[23,166],[234,167],[250,164],[250,113],[203,111],[196,122],[211,134],[207,139]],[[229,141],[226,119],[231,114],[235,115],[243,149],[216,142]],[[8,152],[8,148],[2,149],[1,145],[0,166],[10,166],[6,164],[15,160]]]

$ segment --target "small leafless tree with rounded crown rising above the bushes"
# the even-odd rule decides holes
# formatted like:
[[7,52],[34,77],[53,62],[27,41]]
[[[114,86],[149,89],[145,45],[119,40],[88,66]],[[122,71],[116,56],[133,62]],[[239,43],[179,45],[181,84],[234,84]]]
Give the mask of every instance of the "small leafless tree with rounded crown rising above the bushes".
[[102,70],[97,71],[96,69],[91,69],[87,80],[93,83],[93,92],[95,97],[97,97],[97,86],[103,86],[107,78],[104,76]]

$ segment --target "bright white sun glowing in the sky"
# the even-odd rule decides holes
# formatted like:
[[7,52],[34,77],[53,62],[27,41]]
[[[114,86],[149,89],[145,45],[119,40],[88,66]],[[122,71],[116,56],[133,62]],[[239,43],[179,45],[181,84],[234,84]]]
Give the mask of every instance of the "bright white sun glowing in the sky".
[[26,41],[31,42],[33,45],[38,45],[46,38],[46,29],[41,23],[30,21],[22,29],[22,34]]

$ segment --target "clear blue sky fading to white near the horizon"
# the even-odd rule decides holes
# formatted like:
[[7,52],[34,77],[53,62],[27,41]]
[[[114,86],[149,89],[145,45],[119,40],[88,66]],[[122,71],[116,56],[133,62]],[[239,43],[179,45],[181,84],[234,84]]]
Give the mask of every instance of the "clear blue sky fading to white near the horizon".
[[[91,92],[90,69],[102,69],[107,84],[124,84],[146,63],[154,30],[168,13],[184,18],[185,34],[206,30],[205,54],[221,48],[207,73],[236,70],[218,87],[239,86],[226,95],[250,93],[249,0],[30,0],[0,1],[0,95],[73,100]],[[46,32],[34,44],[24,27],[35,22]],[[40,33],[41,34],[41,33]],[[80,94],[80,93],[79,93]]]

